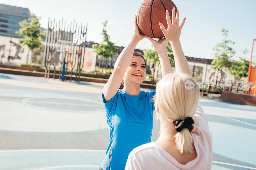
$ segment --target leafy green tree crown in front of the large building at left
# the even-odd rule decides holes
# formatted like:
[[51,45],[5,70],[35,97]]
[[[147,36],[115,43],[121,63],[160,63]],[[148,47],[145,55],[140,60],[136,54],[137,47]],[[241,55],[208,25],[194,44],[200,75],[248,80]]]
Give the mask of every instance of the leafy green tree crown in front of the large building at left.
[[28,49],[33,52],[35,48],[41,48],[41,40],[45,36],[45,33],[39,31],[40,23],[35,14],[30,14],[30,18],[21,21],[19,24],[21,28],[16,33],[24,36],[19,40],[20,44],[27,45]]

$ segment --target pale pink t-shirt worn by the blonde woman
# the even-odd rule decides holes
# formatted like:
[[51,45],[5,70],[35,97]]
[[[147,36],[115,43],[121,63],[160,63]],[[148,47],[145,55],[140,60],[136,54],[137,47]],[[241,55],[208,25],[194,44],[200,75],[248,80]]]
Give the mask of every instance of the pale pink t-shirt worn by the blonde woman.
[[196,159],[182,165],[163,148],[154,142],[140,145],[132,150],[126,162],[125,170],[156,169],[202,169],[210,170],[212,166],[212,135],[199,104],[193,117],[195,124],[191,131],[197,153]]

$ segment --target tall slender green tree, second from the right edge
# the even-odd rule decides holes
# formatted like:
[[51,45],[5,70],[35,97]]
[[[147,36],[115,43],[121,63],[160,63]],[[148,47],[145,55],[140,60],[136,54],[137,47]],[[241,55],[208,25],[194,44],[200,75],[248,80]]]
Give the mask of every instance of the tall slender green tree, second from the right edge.
[[[214,46],[213,48],[214,58],[212,61],[212,65],[213,65],[212,68],[216,71],[220,71],[221,73],[220,79],[222,78],[223,69],[229,68],[231,66],[231,59],[235,54],[235,51],[230,46],[232,44],[235,44],[235,42],[231,40],[226,40],[226,38],[228,37],[228,31],[223,28],[221,30],[221,33],[224,39],[220,43],[217,43]],[[218,79],[218,74],[216,78],[216,83],[217,83],[217,79]]]

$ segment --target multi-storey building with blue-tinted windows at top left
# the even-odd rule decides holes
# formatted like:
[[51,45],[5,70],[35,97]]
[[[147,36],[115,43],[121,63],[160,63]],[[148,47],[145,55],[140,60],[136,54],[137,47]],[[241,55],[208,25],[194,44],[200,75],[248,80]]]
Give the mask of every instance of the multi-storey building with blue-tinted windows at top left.
[[22,38],[15,32],[20,29],[19,22],[30,17],[28,8],[0,4],[0,35]]

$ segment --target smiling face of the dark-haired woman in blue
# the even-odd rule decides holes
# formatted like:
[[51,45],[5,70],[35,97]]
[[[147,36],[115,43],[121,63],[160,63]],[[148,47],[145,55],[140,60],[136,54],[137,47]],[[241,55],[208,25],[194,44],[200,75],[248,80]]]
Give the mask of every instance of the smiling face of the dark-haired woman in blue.
[[124,82],[141,84],[146,75],[146,63],[141,56],[133,56],[124,74]]

